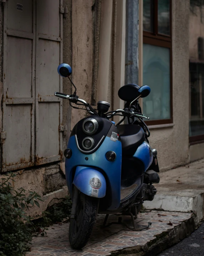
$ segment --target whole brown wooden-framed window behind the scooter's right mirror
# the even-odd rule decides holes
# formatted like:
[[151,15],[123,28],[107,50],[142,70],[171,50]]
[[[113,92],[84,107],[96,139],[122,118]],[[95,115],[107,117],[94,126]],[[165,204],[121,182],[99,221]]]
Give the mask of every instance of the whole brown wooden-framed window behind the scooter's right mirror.
[[148,125],[173,123],[171,0],[143,0],[143,98]]

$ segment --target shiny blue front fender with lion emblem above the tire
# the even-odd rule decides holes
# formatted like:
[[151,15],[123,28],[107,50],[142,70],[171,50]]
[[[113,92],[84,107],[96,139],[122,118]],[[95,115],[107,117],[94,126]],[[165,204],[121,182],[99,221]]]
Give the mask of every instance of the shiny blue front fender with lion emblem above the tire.
[[102,198],[106,195],[106,179],[94,168],[77,166],[73,184],[90,197]]

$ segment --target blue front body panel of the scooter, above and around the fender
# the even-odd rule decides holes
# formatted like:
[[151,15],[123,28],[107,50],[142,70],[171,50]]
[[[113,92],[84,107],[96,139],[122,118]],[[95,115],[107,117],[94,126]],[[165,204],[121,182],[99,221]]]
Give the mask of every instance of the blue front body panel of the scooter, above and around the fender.
[[[121,141],[112,140],[111,137],[106,136],[101,146],[94,153],[85,154],[78,149],[75,135],[73,135],[69,139],[67,148],[72,150],[71,158],[66,158],[65,161],[66,179],[69,193],[72,195],[72,183],[75,178],[75,170],[77,166],[83,166],[83,168],[84,166],[87,166],[96,169],[106,178],[106,184],[108,182],[108,184],[111,186],[110,196],[112,198],[112,204],[108,209],[116,210],[120,205],[121,197]],[[108,161],[106,158],[106,153],[108,151],[114,151],[116,153],[116,159],[114,161]],[[87,158],[88,160],[86,160]],[[94,178],[94,175],[91,178]]]

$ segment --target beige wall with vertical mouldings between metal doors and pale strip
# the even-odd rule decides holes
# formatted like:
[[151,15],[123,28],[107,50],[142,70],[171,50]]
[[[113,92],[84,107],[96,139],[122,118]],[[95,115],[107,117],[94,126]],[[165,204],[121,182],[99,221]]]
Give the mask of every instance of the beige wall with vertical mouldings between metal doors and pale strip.
[[[95,107],[104,100],[113,109],[116,15],[117,0],[72,1],[72,78],[79,98]],[[71,129],[87,115],[72,109]]]

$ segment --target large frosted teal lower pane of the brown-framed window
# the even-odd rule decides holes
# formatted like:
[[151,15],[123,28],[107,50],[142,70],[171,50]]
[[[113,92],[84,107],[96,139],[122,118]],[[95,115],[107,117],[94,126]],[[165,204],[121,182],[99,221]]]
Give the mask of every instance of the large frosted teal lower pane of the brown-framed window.
[[143,84],[151,93],[143,98],[150,120],[170,119],[170,49],[143,44]]

